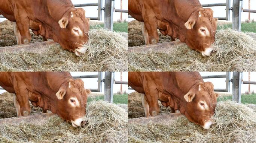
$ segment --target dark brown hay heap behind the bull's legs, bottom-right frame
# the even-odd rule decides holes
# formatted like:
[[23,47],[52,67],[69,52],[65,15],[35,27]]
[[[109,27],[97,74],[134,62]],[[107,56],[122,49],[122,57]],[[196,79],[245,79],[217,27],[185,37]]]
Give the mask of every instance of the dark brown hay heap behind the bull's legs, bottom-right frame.
[[[164,107],[160,101],[158,101],[160,112],[159,114],[171,113],[170,107]],[[178,111],[179,112],[179,111]],[[138,92],[132,92],[128,95],[128,118],[140,118],[145,117],[144,108],[141,102],[141,95]]]

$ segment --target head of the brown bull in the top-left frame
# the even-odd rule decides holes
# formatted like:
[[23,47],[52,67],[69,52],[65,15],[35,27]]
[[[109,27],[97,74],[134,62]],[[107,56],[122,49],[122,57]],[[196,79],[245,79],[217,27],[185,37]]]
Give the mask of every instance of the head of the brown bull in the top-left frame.
[[76,53],[77,56],[86,52],[83,45],[88,41],[89,18],[85,18],[82,8],[71,9],[59,20],[61,47]]

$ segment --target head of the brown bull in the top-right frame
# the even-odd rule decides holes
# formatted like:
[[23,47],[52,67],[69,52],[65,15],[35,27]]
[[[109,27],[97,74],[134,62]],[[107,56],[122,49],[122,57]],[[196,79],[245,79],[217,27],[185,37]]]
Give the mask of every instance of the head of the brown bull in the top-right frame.
[[185,23],[186,44],[202,53],[204,57],[210,56],[214,50],[211,45],[215,42],[217,20],[213,18],[213,10],[207,8],[193,12]]

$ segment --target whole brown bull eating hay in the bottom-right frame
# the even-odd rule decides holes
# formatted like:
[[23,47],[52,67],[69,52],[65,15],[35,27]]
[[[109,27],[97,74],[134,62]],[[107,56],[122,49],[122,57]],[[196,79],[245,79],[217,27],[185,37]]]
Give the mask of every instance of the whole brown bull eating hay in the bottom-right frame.
[[179,110],[189,121],[209,129],[218,94],[213,84],[198,72],[129,72],[128,84],[142,93],[146,117],[159,113],[158,100],[172,111]]

